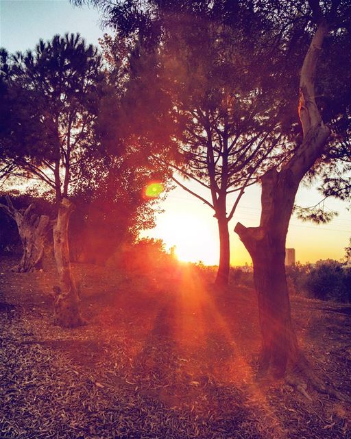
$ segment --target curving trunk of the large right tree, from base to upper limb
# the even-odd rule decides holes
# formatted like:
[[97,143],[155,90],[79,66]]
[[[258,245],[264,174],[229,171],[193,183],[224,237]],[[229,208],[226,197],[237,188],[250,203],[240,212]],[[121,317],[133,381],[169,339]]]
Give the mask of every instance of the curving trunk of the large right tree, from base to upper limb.
[[285,241],[300,181],[322,154],[330,130],[324,125],[315,103],[315,70],[328,33],[326,23],[317,27],[304,58],[300,75],[299,115],[304,138],[282,169],[270,169],[262,178],[261,221],[258,227],[238,223],[234,231],[247,248],[254,264],[262,334],[262,356],[258,375],[281,377],[304,362],[291,324],[285,275]]

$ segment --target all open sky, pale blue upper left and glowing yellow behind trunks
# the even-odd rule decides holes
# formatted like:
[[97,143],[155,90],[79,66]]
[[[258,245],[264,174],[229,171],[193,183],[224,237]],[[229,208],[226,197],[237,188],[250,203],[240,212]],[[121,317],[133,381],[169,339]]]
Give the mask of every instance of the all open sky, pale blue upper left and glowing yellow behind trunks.
[[[101,29],[96,10],[73,7],[68,0],[0,0],[0,47],[10,53],[34,48],[40,38],[49,40],[66,32],[79,32],[88,43],[98,45],[98,39],[108,29]],[[202,195],[206,194],[202,192]],[[311,206],[320,199],[315,188],[301,185],[296,203]],[[343,257],[351,237],[351,213],[346,204],[337,200],[327,200],[326,206],[339,212],[330,224],[316,226],[291,218],[287,248],[295,248],[297,261],[313,263]],[[180,259],[215,265],[219,259],[219,241],[213,211],[181,188],[169,193],[162,209],[164,213],[156,218],[156,228],[145,231],[143,236],[161,238],[167,248],[175,245]],[[232,265],[251,263],[233,231],[235,224],[239,221],[245,226],[257,226],[259,215],[260,187],[250,187],[229,224]]]

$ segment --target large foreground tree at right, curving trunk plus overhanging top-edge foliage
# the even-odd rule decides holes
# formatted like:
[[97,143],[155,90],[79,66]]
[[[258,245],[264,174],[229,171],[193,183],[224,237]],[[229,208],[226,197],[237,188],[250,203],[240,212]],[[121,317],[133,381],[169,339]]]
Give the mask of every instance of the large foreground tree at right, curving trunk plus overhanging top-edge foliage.
[[[250,29],[252,19],[257,15],[265,17],[262,23],[269,27],[269,38],[264,40],[262,60],[273,61],[270,64],[272,82],[268,86],[271,93],[287,91],[291,97],[291,87],[295,86],[296,92],[300,88],[298,115],[302,134],[296,134],[294,139],[293,132],[290,132],[290,140],[295,146],[293,154],[285,156],[282,163],[274,164],[261,178],[260,226],[246,228],[238,223],[235,231],[250,252],[254,263],[254,280],[263,337],[259,375],[269,372],[276,377],[286,375],[291,383],[297,383],[291,378],[293,372],[311,376],[306,360],[298,348],[291,324],[285,274],[285,241],[300,182],[328,145],[330,128],[322,119],[321,106],[315,93],[316,76],[319,78],[320,75],[320,71],[317,71],[317,60],[326,36],[332,35],[336,43],[340,42],[339,36],[350,38],[349,2],[326,1],[319,5],[315,0],[245,1],[245,4],[241,1],[220,0],[150,0],[143,2],[141,8],[138,8],[139,2],[133,0],[117,2],[113,6],[105,0],[92,0],[90,3],[99,6],[108,23],[119,26],[119,32],[139,32],[141,36],[146,35],[151,44],[167,33],[165,21],[162,21],[160,13],[161,8],[158,8],[160,4],[164,7],[162,10],[166,9],[169,15],[176,13],[175,9],[186,13],[192,11],[197,15],[206,16],[209,20],[217,18],[220,22],[230,23],[232,27],[243,25],[243,29]],[[246,14],[240,13],[243,10]],[[261,34],[265,34],[266,30],[261,29]],[[250,43],[255,44],[256,40],[249,40]],[[268,51],[267,45],[270,46]],[[265,54],[271,54],[271,57],[265,58]],[[332,65],[329,64],[329,67],[330,74],[325,83],[318,82],[326,91],[326,84],[330,83],[332,75]],[[343,80],[339,75],[338,79]],[[342,112],[342,108],[339,108],[340,110]],[[286,132],[285,124],[282,124],[282,130]],[[316,379],[312,381],[319,386],[319,390],[326,390]],[[304,390],[300,386],[301,389]]]

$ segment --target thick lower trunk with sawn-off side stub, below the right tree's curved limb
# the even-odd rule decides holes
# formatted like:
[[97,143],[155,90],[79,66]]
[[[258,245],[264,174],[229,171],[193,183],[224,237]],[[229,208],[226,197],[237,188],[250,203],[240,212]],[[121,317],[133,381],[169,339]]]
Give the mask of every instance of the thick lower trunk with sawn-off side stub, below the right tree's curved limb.
[[254,264],[262,335],[258,375],[271,372],[280,377],[300,358],[285,274],[285,240],[297,190],[298,181],[289,170],[271,169],[262,178],[260,226],[246,228],[239,223],[234,229]]

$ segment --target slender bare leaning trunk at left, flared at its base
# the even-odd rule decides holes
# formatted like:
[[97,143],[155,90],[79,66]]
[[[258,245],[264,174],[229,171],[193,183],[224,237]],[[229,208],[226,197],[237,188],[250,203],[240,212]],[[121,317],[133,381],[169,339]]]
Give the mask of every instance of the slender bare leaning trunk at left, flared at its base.
[[69,218],[74,209],[74,204],[64,198],[60,202],[57,222],[53,228],[53,249],[60,281],[60,287],[53,289],[56,294],[53,318],[55,324],[64,328],[84,324],[80,315],[80,297],[69,262],[68,228]]

